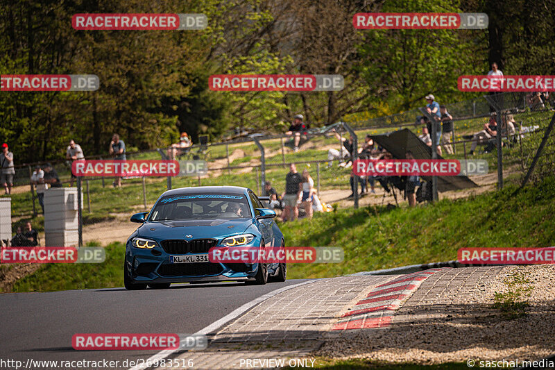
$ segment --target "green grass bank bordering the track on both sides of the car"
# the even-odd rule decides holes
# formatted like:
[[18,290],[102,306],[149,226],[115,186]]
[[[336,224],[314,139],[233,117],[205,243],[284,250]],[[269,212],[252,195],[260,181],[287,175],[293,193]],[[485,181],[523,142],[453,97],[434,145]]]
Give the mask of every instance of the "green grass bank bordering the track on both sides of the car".
[[[280,224],[287,246],[341,246],[338,264],[291,264],[289,278],[325,278],[359,271],[455,260],[462,247],[555,245],[555,180],[417,208],[366,207],[318,213]],[[125,247],[112,243],[102,264],[49,264],[19,280],[17,292],[120,287]]]

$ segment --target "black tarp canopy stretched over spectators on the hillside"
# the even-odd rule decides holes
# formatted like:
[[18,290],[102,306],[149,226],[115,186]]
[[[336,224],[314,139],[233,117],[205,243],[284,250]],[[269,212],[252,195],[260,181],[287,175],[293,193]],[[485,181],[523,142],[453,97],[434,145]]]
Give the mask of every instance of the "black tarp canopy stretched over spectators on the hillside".
[[[393,155],[395,159],[405,159],[404,154],[411,151],[414,159],[432,159],[432,147],[427,146],[418,139],[408,128],[386,133],[382,135],[372,135],[372,140],[382,146],[386,151]],[[438,159],[441,155],[438,155]],[[432,181],[432,176],[420,176],[424,180]],[[438,191],[448,192],[450,190],[461,190],[478,185],[467,176],[438,176]]]

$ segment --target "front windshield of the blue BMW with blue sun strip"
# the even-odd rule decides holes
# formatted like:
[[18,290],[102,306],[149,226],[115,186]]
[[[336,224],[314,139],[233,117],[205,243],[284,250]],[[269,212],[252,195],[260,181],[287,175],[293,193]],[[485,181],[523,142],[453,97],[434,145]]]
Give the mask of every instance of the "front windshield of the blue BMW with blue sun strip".
[[244,195],[186,194],[160,199],[149,221],[250,217],[250,209]]

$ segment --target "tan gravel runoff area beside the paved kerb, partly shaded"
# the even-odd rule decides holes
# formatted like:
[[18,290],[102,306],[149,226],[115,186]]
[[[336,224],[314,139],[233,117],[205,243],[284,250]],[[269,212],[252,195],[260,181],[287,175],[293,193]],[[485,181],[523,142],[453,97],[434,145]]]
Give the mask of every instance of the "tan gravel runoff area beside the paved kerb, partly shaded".
[[[533,291],[527,314],[510,320],[493,303],[515,271]],[[554,297],[554,265],[444,269],[420,285],[388,328],[345,330],[314,355],[417,364],[540,360],[555,353]]]

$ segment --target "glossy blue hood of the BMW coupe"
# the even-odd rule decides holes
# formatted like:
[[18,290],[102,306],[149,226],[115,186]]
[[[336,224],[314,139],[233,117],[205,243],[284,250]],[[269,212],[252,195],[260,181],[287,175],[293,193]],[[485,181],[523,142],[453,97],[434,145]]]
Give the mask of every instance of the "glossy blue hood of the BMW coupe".
[[253,224],[252,219],[210,219],[188,221],[145,222],[137,229],[138,235],[154,239],[220,238],[244,233]]

